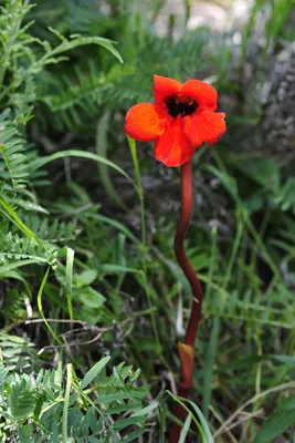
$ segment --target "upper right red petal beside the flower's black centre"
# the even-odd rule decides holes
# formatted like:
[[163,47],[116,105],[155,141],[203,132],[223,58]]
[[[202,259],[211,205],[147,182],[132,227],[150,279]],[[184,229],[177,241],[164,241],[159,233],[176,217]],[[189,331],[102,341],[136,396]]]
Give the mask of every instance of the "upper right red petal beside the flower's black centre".
[[200,80],[188,80],[181,93],[187,97],[196,100],[199,111],[215,111],[218,105],[218,93],[209,83],[201,82]]

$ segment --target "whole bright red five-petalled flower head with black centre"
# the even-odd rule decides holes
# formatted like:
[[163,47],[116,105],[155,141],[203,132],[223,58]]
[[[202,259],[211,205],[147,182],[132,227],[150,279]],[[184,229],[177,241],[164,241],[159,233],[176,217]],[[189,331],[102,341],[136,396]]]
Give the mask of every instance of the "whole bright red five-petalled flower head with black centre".
[[225,132],[210,84],[154,75],[154,94],[155,104],[138,103],[127,112],[125,132],[138,142],[154,140],[155,156],[167,166],[182,165],[203,142],[212,145]]

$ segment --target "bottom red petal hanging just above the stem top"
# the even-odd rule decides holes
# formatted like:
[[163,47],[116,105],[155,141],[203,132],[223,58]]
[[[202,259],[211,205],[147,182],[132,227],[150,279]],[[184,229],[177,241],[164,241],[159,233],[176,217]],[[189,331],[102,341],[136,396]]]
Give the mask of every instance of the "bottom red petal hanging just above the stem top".
[[181,116],[170,119],[165,133],[155,141],[155,156],[166,166],[180,166],[188,162],[194,147],[183,134]]

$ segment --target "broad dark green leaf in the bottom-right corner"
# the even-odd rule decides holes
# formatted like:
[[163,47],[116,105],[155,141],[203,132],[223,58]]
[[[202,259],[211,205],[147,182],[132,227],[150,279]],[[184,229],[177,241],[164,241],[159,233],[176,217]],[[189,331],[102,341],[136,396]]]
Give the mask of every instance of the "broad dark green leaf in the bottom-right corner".
[[282,400],[274,412],[263,423],[254,443],[270,443],[295,423],[295,395]]

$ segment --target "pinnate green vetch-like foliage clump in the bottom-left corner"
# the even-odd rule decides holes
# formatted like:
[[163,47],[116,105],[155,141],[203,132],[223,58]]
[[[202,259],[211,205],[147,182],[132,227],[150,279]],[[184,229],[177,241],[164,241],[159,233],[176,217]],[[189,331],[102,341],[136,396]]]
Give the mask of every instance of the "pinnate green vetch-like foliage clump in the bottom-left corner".
[[[62,372],[44,371],[17,374],[7,364],[0,365],[0,414],[2,441],[43,442],[62,441],[65,435],[77,442],[133,442],[147,432],[149,411],[143,409],[146,390],[135,385],[139,371],[124,363],[106,377],[103,358],[78,380],[67,365],[66,391]],[[86,392],[94,382],[94,396]],[[92,395],[92,396],[89,396]],[[115,418],[110,419],[112,416]],[[30,421],[30,424],[28,424]],[[64,429],[63,423],[67,423]]]

